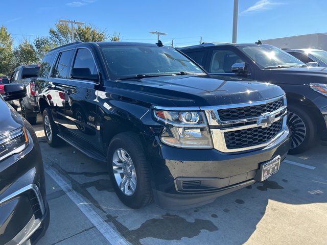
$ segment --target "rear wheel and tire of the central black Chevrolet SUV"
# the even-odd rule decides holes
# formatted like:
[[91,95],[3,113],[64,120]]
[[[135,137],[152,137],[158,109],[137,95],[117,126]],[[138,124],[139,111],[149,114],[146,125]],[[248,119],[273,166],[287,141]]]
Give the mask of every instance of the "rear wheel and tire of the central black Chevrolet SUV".
[[42,113],[43,118],[43,130],[46,138],[46,142],[52,147],[58,146],[62,143],[61,138],[58,137],[58,128],[55,121],[52,118],[50,108],[45,108]]

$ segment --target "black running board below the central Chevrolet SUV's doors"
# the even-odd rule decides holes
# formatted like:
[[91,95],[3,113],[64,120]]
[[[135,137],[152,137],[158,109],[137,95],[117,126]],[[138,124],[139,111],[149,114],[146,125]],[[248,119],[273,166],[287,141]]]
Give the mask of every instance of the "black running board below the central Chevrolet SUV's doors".
[[[97,150],[94,146],[88,145],[88,148],[86,148],[83,143],[79,142],[76,137],[70,135],[69,133],[59,133],[57,134],[59,138],[66,141],[68,144],[74,146],[77,150],[84,153],[86,156],[100,161],[100,162],[106,162],[106,156],[101,153],[99,150]],[[85,142],[85,141],[82,141]]]

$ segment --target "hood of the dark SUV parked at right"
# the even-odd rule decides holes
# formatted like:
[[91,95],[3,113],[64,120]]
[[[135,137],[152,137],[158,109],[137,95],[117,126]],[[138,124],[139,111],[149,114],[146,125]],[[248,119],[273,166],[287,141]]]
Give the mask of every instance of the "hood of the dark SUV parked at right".
[[[267,82],[283,82],[290,84],[309,85],[309,83],[327,83],[327,67],[299,67],[278,68],[264,70],[265,78],[271,77]],[[262,80],[259,78],[259,80]]]

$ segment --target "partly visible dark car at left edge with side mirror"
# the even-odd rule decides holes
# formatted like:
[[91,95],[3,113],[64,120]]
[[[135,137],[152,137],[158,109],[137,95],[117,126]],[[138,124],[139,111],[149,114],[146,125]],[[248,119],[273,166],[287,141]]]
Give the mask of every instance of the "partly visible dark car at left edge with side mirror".
[[32,126],[5,101],[26,96],[6,84],[0,96],[0,244],[31,244],[49,225],[40,146]]

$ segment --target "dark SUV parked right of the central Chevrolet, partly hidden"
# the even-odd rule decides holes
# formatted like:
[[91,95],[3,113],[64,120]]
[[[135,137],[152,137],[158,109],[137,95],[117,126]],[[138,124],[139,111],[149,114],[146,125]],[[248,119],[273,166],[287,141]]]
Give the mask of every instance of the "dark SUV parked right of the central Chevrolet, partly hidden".
[[203,43],[179,50],[202,65],[212,77],[233,76],[281,86],[288,101],[290,154],[308,150],[319,138],[327,139],[325,68],[308,67],[267,44]]

